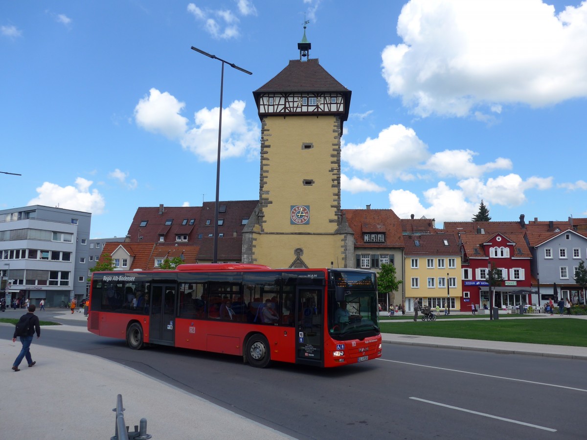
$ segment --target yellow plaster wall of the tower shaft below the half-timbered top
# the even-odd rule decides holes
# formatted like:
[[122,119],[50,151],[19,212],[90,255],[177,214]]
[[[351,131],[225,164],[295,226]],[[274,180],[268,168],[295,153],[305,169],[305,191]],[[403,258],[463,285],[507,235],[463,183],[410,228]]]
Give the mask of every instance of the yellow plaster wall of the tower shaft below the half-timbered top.
[[[336,223],[329,220],[336,219],[336,208],[331,205],[338,191],[332,187],[333,170],[339,172],[338,165],[332,164],[336,160],[333,143],[338,142],[338,133],[333,133],[335,117],[267,117],[265,121],[263,137],[270,146],[264,155],[269,160],[263,161],[266,180],[262,191],[269,194],[262,197],[271,203],[264,208],[264,232],[334,232]],[[313,148],[302,150],[303,143],[312,143]],[[304,186],[302,180],[314,184]],[[309,205],[309,224],[290,224],[291,205]]]

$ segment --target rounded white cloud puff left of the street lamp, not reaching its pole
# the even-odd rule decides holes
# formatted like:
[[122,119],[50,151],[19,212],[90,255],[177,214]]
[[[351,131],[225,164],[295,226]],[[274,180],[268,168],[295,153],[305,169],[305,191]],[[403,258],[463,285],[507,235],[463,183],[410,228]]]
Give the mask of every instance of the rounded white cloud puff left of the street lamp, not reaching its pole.
[[180,116],[185,103],[179,102],[169,93],[157,89],[149,90],[134,107],[134,119],[140,127],[151,133],[161,133],[170,139],[176,139],[187,130],[187,119]]

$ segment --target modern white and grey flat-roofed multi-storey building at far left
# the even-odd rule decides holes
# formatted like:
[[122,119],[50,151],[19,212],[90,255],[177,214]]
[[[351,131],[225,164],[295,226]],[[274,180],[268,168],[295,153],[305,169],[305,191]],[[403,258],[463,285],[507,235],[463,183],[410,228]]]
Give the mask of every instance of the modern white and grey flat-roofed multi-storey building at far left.
[[92,214],[33,205],[0,210],[0,273],[14,298],[59,307],[86,296]]

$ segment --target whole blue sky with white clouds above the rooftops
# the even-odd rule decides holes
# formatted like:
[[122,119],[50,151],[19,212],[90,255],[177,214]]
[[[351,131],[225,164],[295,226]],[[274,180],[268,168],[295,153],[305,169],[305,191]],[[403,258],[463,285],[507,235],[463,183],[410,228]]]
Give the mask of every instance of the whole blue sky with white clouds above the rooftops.
[[587,4],[567,0],[0,3],[0,209],[258,199],[252,91],[310,56],[352,90],[343,208],[466,221],[587,216]]

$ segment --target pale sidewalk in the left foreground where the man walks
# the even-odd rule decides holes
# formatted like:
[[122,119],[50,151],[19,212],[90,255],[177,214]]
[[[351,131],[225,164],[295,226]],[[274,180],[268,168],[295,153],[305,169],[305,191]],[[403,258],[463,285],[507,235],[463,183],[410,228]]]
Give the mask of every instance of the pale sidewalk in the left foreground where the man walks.
[[[86,320],[86,317],[83,313],[68,312],[59,319]],[[43,326],[41,338],[49,331],[87,332],[80,326]],[[146,418],[147,433],[153,440],[291,439],[122,364],[41,346],[36,341],[33,339],[31,345],[36,365],[28,368],[23,360],[21,371],[15,372],[10,367],[21,350],[21,343],[0,340],[2,438],[109,439],[114,435],[112,408],[116,407],[116,396],[122,394],[126,425],[134,431],[134,425]]]

